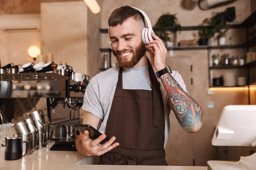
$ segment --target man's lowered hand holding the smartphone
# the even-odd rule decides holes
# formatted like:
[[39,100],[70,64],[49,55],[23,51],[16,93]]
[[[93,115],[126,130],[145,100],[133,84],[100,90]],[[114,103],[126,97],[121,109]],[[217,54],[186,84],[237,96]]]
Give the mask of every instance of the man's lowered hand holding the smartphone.
[[89,131],[85,130],[84,134],[81,136],[82,149],[84,151],[84,154],[86,156],[100,156],[119,145],[119,143],[117,142],[112,144],[116,140],[114,136],[105,144],[98,145],[99,142],[101,142],[105,138],[106,138],[106,135],[102,134],[101,136],[99,136],[99,138],[92,141],[89,138]]

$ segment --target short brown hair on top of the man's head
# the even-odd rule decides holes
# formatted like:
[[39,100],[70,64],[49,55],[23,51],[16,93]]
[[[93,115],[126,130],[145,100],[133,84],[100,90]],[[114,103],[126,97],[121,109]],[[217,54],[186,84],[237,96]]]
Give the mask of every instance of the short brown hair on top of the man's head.
[[108,18],[108,26],[117,26],[119,24],[122,24],[130,17],[133,17],[134,20],[137,21],[143,21],[145,26],[143,14],[141,14],[140,11],[132,8],[131,6],[122,6],[120,8],[116,8]]

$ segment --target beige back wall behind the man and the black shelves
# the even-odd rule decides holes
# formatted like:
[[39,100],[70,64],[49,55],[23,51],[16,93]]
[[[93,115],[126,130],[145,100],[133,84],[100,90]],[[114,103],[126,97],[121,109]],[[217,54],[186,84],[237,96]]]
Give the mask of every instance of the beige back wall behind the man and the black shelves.
[[[188,11],[181,6],[181,1],[177,0],[147,0],[134,1],[134,0],[108,0],[103,2],[101,11],[101,28],[108,28],[108,17],[111,12],[120,6],[134,6],[142,9],[148,15],[151,20],[151,24],[154,26],[158,17],[161,14],[169,12],[170,14],[177,13],[177,18],[181,26],[196,26],[204,20],[205,17],[211,17],[212,12],[223,11],[227,7],[235,6],[237,18],[234,23],[241,23],[246,17],[250,15],[250,2],[249,0],[237,0],[227,6],[221,6],[220,8],[214,8],[207,11],[202,11],[196,7],[192,11]],[[198,31],[182,31],[177,34],[177,41],[198,39]],[[196,36],[194,36],[196,35]],[[227,33],[227,37],[231,40],[227,40],[227,44],[240,44],[245,42],[245,30],[244,29],[232,29]],[[101,48],[107,48],[108,34],[102,34]],[[212,39],[212,44],[216,45],[217,40]],[[212,53],[229,53],[230,56],[235,54],[239,57],[244,57],[245,50],[239,49],[223,49],[213,50]],[[103,54],[103,53],[102,53]],[[147,54],[149,57],[149,54]],[[113,56],[113,55],[112,55]],[[115,58],[112,57],[113,62]],[[190,61],[193,65],[193,71],[188,74],[187,67],[189,67]],[[175,64],[173,63],[175,62]],[[182,63],[181,65],[179,65]],[[211,140],[215,130],[215,126],[218,123],[219,116],[222,108],[225,105],[246,105],[247,90],[246,89],[212,89],[213,95],[208,96],[207,90],[209,88],[209,72],[208,72],[208,51],[207,50],[187,50],[187,51],[174,51],[174,57],[167,59],[167,64],[175,67],[176,71],[179,71],[182,75],[186,86],[189,90],[189,94],[201,105],[203,110],[203,127],[195,134],[186,133],[178,124],[173,113],[170,115],[170,129],[169,142],[166,146],[166,161],[169,165],[192,165],[193,159],[195,159],[195,165],[205,166],[208,160],[216,160],[220,158],[218,155],[223,155],[224,151],[217,152],[217,147],[212,146]],[[186,66],[186,67],[185,67]],[[181,69],[182,68],[182,69]],[[235,71],[235,70],[228,70]],[[214,71],[214,76],[218,77],[225,72],[224,70]],[[244,75],[245,72],[235,71],[237,75]],[[193,85],[190,85],[190,78],[193,78]],[[214,102],[215,107],[213,109],[207,108],[207,102]],[[230,151],[230,153],[232,150]]]

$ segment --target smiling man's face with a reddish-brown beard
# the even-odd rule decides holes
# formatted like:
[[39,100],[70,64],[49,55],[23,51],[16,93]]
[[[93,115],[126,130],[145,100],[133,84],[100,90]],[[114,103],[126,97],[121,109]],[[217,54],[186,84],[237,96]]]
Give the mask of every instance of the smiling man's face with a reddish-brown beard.
[[113,54],[123,68],[134,67],[145,54],[145,45],[141,38],[141,22],[128,18],[121,25],[110,26],[110,38]]

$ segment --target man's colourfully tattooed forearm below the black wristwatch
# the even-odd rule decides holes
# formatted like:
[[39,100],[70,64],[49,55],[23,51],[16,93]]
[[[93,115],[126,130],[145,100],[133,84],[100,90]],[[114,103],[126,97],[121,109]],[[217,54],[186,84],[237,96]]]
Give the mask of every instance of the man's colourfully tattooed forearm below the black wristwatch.
[[188,133],[195,133],[202,126],[202,111],[198,103],[192,99],[177,81],[170,75],[160,77],[169,97],[169,106],[181,127]]

